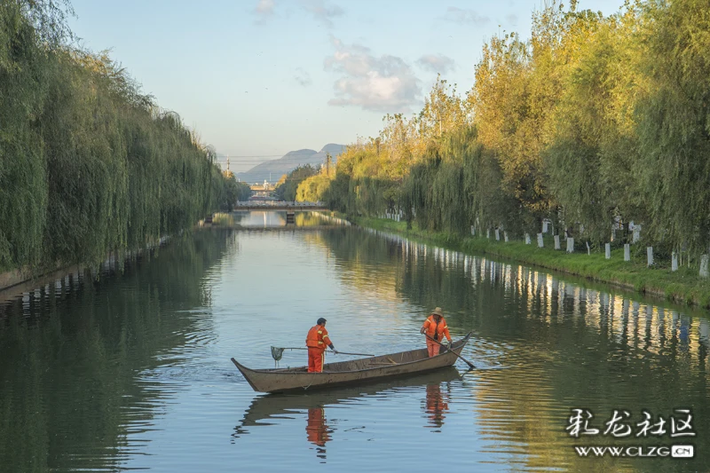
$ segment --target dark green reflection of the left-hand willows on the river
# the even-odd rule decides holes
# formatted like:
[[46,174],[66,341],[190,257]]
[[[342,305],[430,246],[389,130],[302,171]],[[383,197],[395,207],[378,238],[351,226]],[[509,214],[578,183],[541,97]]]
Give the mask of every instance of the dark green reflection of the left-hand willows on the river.
[[196,233],[122,274],[70,277],[0,307],[4,470],[115,469],[129,429],[150,422],[166,395],[136,373],[186,343],[193,319],[176,311],[209,305],[202,277],[232,243]]

